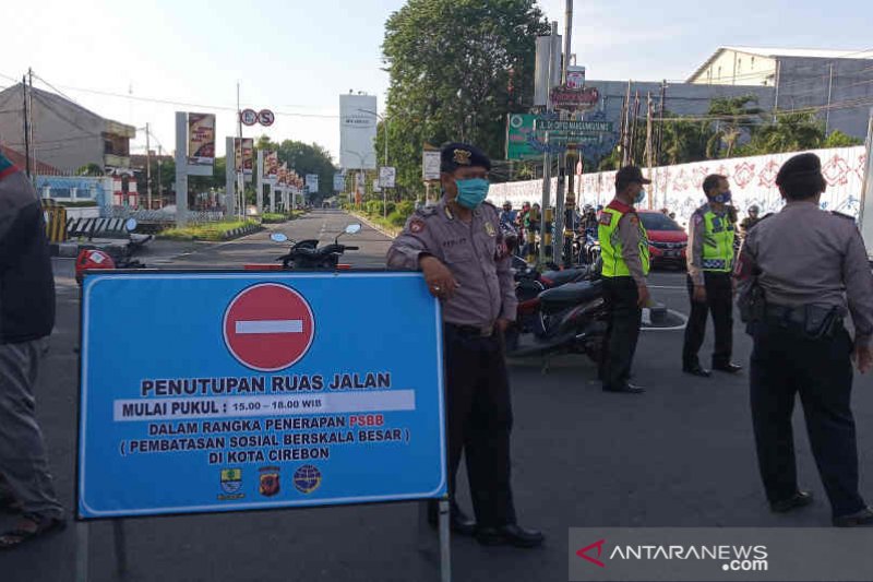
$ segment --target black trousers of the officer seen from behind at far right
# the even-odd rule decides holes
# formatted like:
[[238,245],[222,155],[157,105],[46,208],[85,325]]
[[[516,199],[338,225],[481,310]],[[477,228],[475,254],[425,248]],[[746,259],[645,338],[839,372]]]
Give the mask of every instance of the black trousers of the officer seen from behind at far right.
[[858,491],[858,449],[849,407],[851,338],[840,328],[809,338],[773,320],[752,324],[752,421],[764,489],[770,502],[798,490],[791,413],[800,395],[815,464],[834,516],[864,508]]

